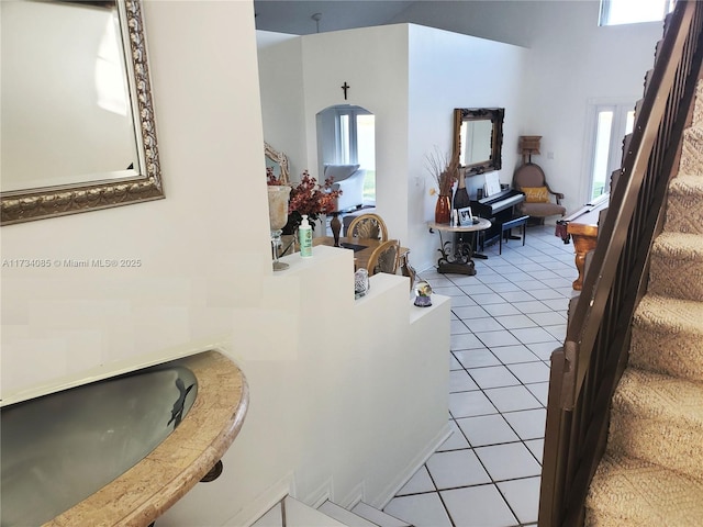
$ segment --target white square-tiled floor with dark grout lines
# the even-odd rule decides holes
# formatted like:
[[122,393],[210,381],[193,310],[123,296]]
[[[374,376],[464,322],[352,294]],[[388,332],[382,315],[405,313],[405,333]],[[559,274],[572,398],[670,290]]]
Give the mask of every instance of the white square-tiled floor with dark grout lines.
[[384,511],[415,527],[536,525],[549,357],[566,335],[573,245],[554,225],[486,247],[477,274],[421,272],[451,296],[454,434]]

